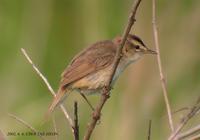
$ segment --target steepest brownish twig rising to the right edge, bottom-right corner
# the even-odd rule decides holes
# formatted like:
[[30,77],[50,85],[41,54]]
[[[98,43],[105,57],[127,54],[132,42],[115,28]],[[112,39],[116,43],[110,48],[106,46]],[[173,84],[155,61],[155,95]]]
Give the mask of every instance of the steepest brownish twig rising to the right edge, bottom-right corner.
[[191,108],[190,112],[181,120],[181,123],[178,125],[176,130],[170,135],[168,140],[175,140],[178,134],[181,132],[183,127],[191,120],[198,112],[200,111],[199,100]]

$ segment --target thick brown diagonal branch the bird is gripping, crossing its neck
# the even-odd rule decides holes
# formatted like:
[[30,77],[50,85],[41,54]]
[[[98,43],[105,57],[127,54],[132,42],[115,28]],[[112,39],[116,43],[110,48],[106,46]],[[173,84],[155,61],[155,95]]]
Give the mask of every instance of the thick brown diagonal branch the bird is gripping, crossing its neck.
[[91,122],[89,123],[88,125],[88,129],[84,135],[84,140],[89,140],[90,137],[91,137],[91,134],[97,124],[97,121],[99,120],[100,118],[100,115],[101,115],[101,110],[105,104],[105,102],[107,101],[107,99],[109,98],[109,95],[110,95],[110,90],[111,90],[111,82],[112,82],[112,79],[113,79],[113,76],[115,74],[115,71],[117,69],[117,66],[120,62],[120,59],[121,59],[121,52],[122,52],[122,48],[127,40],[127,36],[133,26],[133,24],[135,23],[135,15],[136,15],[136,11],[140,5],[140,2],[141,0],[136,0],[135,3],[133,4],[133,7],[132,7],[132,10],[131,10],[131,14],[130,14],[130,17],[129,17],[129,20],[128,20],[128,24],[124,30],[124,33],[123,33],[123,36],[122,36],[122,43],[121,45],[119,46],[119,49],[117,51],[117,54],[116,54],[116,57],[115,57],[115,60],[114,60],[114,65],[113,65],[113,69],[112,69],[112,75],[109,77],[110,79],[108,80],[108,83],[107,85],[105,86],[104,90],[103,90],[103,93],[102,93],[102,96],[101,96],[101,99],[100,99],[100,102],[99,104],[97,105],[95,111],[93,112],[93,117],[92,117],[92,120]]

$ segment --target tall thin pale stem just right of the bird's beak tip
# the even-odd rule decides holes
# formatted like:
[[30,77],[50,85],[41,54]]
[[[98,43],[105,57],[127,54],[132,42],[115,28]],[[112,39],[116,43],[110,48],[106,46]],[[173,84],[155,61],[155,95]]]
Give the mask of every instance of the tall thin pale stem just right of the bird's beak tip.
[[173,132],[174,131],[174,125],[173,125],[173,120],[172,120],[172,112],[171,112],[171,108],[170,108],[170,104],[169,104],[169,99],[168,99],[168,94],[167,94],[167,86],[166,86],[165,77],[163,75],[162,64],[161,64],[161,59],[160,59],[158,31],[157,31],[157,25],[156,25],[155,0],[152,0],[152,23],[153,23],[153,33],[154,33],[154,41],[155,41],[155,46],[156,46],[156,52],[158,53],[157,61],[158,61],[158,67],[159,67],[159,73],[160,73],[160,80],[161,80],[164,100],[165,100],[165,104],[166,104],[166,108],[167,108],[169,125],[170,125],[170,128],[171,128],[171,131]]

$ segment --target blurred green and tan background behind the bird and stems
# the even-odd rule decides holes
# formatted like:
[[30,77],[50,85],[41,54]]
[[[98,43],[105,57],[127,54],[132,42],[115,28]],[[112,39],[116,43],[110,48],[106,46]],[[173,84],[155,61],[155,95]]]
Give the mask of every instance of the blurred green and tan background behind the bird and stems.
[[[6,136],[8,132],[29,131],[8,117],[8,113],[41,132],[54,131],[51,121],[42,125],[52,96],[20,48],[27,50],[56,90],[61,72],[77,52],[97,40],[122,34],[132,3],[133,0],[0,0],[0,130],[6,139],[38,139]],[[151,7],[150,0],[142,1],[132,32],[154,48]],[[199,14],[199,0],[157,0],[161,58],[173,111],[189,107],[200,95]],[[88,98],[95,105],[99,96]],[[82,137],[91,110],[79,94],[71,94],[65,101],[71,116],[74,100],[79,103]],[[173,116],[176,124],[185,113]],[[58,138],[72,139],[61,111],[57,109],[54,114]],[[169,135],[155,56],[145,56],[123,73],[92,139],[145,140],[150,119],[152,139],[161,140]],[[196,117],[190,125],[199,121]]]

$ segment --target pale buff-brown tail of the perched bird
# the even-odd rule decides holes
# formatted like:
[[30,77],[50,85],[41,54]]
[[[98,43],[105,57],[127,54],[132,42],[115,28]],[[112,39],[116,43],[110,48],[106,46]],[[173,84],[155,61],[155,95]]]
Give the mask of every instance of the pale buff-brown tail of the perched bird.
[[54,111],[56,106],[58,106],[60,103],[62,103],[62,101],[64,101],[64,99],[67,97],[67,95],[69,94],[68,92],[69,92],[68,89],[63,89],[63,88],[58,89],[56,96],[54,97],[51,105],[49,106],[49,109],[48,109],[48,112],[45,115],[45,118],[49,118],[49,116]]

